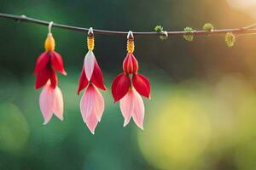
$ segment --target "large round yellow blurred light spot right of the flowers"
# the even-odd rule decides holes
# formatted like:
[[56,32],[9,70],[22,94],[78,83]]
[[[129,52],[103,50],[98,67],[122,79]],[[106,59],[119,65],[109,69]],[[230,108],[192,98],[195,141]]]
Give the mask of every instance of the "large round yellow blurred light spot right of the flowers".
[[200,98],[177,93],[158,108],[147,130],[138,133],[143,156],[160,169],[193,166],[210,137],[210,122]]

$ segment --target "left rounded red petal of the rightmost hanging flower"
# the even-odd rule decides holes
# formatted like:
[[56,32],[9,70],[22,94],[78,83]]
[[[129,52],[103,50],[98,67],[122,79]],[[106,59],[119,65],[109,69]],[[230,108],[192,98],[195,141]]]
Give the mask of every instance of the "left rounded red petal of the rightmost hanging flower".
[[131,87],[131,79],[124,73],[119,74],[112,82],[112,95],[114,102],[122,99]]

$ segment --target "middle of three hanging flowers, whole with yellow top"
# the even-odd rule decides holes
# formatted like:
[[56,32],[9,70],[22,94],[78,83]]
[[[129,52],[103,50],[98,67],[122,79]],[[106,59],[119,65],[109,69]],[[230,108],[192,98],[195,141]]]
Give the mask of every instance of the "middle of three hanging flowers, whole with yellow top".
[[80,74],[78,94],[85,88],[80,101],[83,120],[91,133],[95,133],[98,122],[104,111],[104,99],[97,88],[106,90],[102,71],[93,54],[94,36],[90,28],[87,37],[88,53],[84,57],[84,66]]

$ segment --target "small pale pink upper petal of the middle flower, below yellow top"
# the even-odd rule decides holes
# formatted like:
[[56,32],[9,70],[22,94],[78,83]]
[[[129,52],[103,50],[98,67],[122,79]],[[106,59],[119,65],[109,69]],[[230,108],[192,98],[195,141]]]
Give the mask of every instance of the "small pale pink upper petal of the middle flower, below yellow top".
[[84,58],[84,71],[88,81],[90,81],[90,78],[92,76],[95,62],[96,62],[96,59],[93,52],[88,51],[88,53],[85,55],[85,58]]

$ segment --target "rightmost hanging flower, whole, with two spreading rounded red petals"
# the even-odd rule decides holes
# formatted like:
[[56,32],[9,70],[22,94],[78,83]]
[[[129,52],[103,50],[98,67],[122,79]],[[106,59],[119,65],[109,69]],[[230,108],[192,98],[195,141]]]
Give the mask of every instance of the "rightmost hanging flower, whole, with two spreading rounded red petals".
[[134,37],[131,31],[127,36],[127,51],[123,62],[124,72],[112,82],[112,95],[114,102],[120,100],[120,110],[125,118],[124,127],[132,117],[137,126],[143,129],[144,104],[141,95],[150,99],[150,84],[146,77],[137,73],[138,62],[133,55]]

